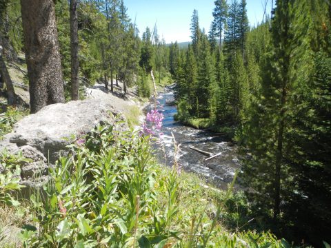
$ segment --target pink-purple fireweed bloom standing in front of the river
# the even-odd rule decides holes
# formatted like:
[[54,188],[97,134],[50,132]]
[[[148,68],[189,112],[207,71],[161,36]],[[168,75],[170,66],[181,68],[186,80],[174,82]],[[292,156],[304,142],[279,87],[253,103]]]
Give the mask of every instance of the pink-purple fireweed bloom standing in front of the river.
[[157,110],[151,110],[147,113],[146,121],[143,123],[141,134],[155,136],[162,127],[163,114]]

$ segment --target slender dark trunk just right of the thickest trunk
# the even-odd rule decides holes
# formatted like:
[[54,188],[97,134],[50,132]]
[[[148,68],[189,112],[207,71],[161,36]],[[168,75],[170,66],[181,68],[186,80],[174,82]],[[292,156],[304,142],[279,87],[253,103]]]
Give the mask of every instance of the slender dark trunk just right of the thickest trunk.
[[71,99],[77,101],[78,92],[79,92],[77,0],[70,0],[70,51],[71,51]]

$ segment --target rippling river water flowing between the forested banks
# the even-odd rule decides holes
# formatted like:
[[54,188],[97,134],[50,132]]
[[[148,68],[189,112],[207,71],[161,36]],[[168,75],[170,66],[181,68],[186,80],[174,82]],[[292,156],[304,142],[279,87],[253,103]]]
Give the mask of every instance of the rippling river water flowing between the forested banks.
[[[205,130],[196,130],[174,121],[177,108],[174,105],[169,105],[174,101],[174,92],[171,86],[166,87],[164,92],[159,94],[157,101],[157,110],[162,112],[164,116],[161,130],[163,132],[163,145],[159,147],[161,162],[166,165],[173,163],[174,141],[172,134],[174,134],[176,142],[181,144],[179,154],[177,154],[177,161],[181,169],[199,174],[210,183],[225,189],[228,183],[232,182],[235,170],[240,167],[237,147],[223,136]],[[147,107],[147,111],[152,107],[154,105],[151,103]],[[205,161],[208,156],[194,151],[190,147],[212,154],[221,153],[221,155]],[[165,152],[161,152],[162,149]]]

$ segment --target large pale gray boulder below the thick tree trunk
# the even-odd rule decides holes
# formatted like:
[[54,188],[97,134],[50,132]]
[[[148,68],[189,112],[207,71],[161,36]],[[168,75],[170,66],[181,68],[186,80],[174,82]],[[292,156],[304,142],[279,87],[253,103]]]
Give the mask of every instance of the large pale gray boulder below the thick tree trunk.
[[[66,150],[72,137],[86,134],[99,123],[123,121],[123,115],[112,104],[98,99],[70,101],[43,107],[14,125],[13,132],[5,136],[6,146],[28,145],[36,148],[54,164]],[[121,123],[120,129],[126,129]]]

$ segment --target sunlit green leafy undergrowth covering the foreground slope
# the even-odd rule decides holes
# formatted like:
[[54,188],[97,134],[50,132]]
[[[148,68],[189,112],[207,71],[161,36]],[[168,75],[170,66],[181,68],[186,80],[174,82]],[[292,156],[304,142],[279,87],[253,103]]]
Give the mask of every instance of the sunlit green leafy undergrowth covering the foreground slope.
[[247,214],[247,204],[232,185],[228,192],[203,187],[176,164],[158,165],[152,142],[98,126],[70,145],[71,155],[50,169],[47,185],[23,201],[28,225],[20,226],[20,245],[291,247],[269,232],[243,231],[239,215]]

